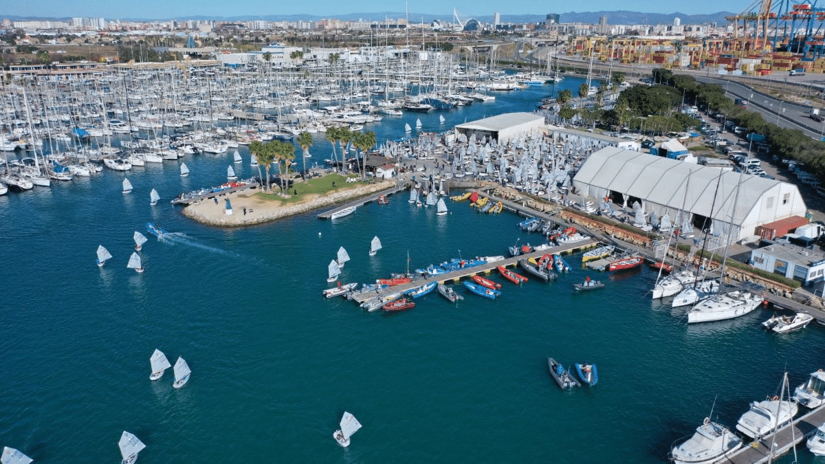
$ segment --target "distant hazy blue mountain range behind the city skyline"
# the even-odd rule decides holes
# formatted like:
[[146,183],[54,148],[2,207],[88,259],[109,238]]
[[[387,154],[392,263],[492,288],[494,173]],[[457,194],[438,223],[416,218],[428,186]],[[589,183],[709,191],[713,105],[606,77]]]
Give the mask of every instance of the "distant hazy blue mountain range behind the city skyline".
[[[568,12],[560,14],[561,22],[582,22],[587,24],[596,24],[601,17],[607,17],[608,24],[672,24],[674,18],[679,18],[682,24],[705,24],[716,22],[724,24],[726,16],[732,16],[731,12],[717,12],[707,15],[684,15],[681,13],[643,13],[643,12]],[[349,13],[346,15],[329,15],[318,16],[310,14],[299,15],[245,15],[237,17],[206,17],[206,16],[191,16],[191,17],[174,17],[166,19],[149,19],[149,18],[120,18],[125,21],[167,21],[174,19],[177,21],[320,21],[322,19],[339,19],[341,21],[395,21],[398,18],[406,17],[404,12],[370,12],[370,13]],[[493,22],[493,15],[483,16],[464,16],[461,15],[461,21],[466,21],[474,17],[481,22]],[[502,15],[501,21],[504,23],[535,23],[544,22],[545,14],[536,15]],[[11,21],[71,21],[68,17],[2,17]],[[106,18],[119,19],[119,18]],[[409,13],[410,22],[417,23],[424,21],[429,23],[433,20],[439,21],[453,21],[452,15],[434,15],[428,13]]]

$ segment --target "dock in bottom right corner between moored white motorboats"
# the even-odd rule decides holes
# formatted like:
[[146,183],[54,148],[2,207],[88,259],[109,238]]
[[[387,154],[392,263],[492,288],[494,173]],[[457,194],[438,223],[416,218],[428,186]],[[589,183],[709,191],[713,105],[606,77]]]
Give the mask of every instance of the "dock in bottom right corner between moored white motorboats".
[[780,428],[774,434],[768,434],[761,440],[754,440],[750,446],[745,445],[738,452],[733,453],[724,462],[731,464],[760,464],[771,459],[771,441],[774,442],[773,457],[789,452],[791,447],[796,446],[804,439],[810,437],[817,431],[817,428],[825,422],[825,406],[819,406],[795,419],[785,427]]

